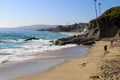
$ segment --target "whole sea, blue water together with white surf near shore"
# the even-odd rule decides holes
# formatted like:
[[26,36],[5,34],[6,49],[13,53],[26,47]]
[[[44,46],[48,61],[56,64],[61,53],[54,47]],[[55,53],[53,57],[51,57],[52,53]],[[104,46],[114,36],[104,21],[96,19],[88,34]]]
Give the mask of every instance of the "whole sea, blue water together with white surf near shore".
[[[34,36],[39,40],[25,41]],[[48,31],[0,29],[0,63],[33,59],[40,52],[76,46],[50,46],[50,41],[69,36],[71,35]]]

